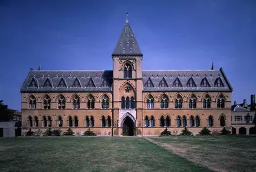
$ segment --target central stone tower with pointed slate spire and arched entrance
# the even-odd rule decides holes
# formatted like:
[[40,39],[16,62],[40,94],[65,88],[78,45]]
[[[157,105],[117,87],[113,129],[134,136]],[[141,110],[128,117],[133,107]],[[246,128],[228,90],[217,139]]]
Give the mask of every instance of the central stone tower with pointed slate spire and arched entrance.
[[[134,135],[136,121],[142,118],[142,52],[127,19],[112,54],[113,58],[113,113],[120,129],[119,134],[131,135],[131,126],[124,126],[132,120]],[[125,127],[129,131],[125,131]]]

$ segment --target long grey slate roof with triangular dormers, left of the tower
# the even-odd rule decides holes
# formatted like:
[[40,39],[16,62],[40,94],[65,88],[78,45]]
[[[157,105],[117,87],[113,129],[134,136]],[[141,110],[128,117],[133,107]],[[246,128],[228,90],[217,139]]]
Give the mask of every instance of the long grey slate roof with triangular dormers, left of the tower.
[[[32,70],[21,86],[21,92],[111,92],[112,71],[44,71]],[[58,87],[60,81],[64,80],[67,87]],[[52,87],[43,87],[49,78]],[[87,87],[92,78],[96,87]],[[38,87],[30,87],[32,80],[36,81]],[[78,80],[81,84],[73,87]],[[109,87],[101,87],[103,81],[107,80]]]

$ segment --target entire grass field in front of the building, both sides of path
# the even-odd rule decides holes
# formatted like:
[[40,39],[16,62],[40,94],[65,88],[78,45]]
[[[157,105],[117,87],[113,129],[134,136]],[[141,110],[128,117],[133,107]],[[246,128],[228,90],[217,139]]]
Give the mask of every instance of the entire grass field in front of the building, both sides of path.
[[0,138],[0,171],[255,171],[256,138],[149,139]]

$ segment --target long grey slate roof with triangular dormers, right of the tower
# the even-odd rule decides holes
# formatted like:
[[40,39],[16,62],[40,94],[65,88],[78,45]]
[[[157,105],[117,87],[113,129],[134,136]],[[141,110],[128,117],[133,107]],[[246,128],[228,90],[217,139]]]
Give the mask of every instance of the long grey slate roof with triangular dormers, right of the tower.
[[[196,87],[186,87],[189,78],[193,78]],[[209,81],[211,87],[200,87],[202,79]],[[214,87],[216,78],[220,77],[224,87]],[[148,79],[151,79],[154,87],[145,87]],[[159,83],[164,78],[168,87],[159,87]],[[173,82],[178,78],[182,87],[173,87]],[[229,92],[232,91],[226,75],[222,68],[220,70],[169,70],[169,71],[143,71],[143,91],[144,92]]]

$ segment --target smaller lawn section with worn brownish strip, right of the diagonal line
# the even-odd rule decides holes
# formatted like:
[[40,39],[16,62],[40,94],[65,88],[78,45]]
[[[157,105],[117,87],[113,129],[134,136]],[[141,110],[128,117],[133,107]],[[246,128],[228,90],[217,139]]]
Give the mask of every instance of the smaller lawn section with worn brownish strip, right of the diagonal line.
[[150,138],[191,162],[215,171],[256,171],[255,136]]

